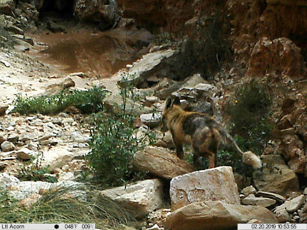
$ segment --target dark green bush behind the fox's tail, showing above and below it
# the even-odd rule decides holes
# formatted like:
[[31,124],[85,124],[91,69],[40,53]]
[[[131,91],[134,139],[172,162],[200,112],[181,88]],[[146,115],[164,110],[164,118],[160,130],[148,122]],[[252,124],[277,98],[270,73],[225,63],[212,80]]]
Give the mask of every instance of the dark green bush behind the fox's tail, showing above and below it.
[[[273,129],[269,121],[271,104],[272,97],[267,85],[256,80],[238,85],[234,97],[226,103],[226,112],[232,123],[231,133],[242,151],[262,153]],[[218,159],[221,165],[250,174],[249,168],[242,164],[241,157],[229,147],[218,151]]]

